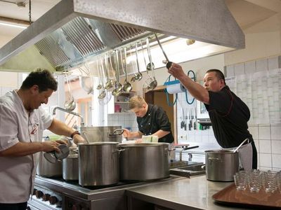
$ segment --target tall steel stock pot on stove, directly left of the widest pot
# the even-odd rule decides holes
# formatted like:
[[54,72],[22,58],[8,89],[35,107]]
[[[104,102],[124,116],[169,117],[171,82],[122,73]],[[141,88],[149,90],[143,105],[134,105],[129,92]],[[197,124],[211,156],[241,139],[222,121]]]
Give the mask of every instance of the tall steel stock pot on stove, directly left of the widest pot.
[[119,182],[118,142],[78,144],[79,185],[107,186]]

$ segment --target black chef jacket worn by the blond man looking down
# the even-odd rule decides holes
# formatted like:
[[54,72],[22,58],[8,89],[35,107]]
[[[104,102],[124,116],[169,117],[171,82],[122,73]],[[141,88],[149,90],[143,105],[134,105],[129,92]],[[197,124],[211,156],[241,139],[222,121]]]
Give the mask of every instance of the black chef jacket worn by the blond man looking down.
[[158,142],[172,143],[174,141],[171,133],[171,123],[166,112],[159,106],[148,104],[148,112],[143,118],[137,117],[138,130],[145,136],[154,134],[158,130],[170,132],[166,136],[158,139]]

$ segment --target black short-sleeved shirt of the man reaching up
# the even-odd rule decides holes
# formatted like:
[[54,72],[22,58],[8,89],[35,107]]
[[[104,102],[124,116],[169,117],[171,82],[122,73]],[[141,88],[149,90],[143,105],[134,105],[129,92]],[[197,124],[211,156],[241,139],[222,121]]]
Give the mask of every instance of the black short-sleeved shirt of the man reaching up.
[[253,141],[248,131],[249,108],[229,87],[218,92],[209,91],[209,112],[214,136],[222,148],[239,146],[244,139]]

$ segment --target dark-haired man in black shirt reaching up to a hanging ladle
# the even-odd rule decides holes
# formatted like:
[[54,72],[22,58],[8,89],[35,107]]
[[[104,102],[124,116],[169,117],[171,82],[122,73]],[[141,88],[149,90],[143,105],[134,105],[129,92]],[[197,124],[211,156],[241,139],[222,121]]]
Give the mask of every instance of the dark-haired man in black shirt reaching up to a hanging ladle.
[[202,87],[190,79],[178,64],[173,63],[168,72],[178,78],[195,99],[205,104],[214,136],[222,148],[237,147],[244,139],[249,139],[251,144],[246,144],[239,150],[240,161],[244,169],[256,169],[256,146],[247,125],[249,108],[230,91],[223,73],[218,69],[210,69],[204,76]]

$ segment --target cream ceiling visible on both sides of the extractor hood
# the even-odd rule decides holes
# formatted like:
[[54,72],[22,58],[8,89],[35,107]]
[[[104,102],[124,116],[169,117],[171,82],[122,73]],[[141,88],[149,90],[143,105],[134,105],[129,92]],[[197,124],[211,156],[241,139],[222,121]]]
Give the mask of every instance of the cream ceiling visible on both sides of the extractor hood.
[[[29,20],[29,0],[6,1],[0,0],[0,17]],[[26,4],[26,6],[17,6],[17,3],[21,2]],[[59,0],[32,1],[32,22],[41,17],[58,2]],[[226,0],[226,4],[243,30],[281,12],[281,0]],[[0,47],[19,34],[20,31],[22,29],[0,25]]]

